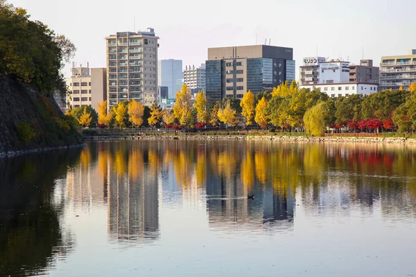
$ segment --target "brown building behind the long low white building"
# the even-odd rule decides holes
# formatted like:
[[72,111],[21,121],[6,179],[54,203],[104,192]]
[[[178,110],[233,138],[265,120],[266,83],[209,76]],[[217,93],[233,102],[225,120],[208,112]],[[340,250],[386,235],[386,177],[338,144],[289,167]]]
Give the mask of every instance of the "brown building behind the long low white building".
[[379,67],[372,60],[360,60],[359,65],[349,65],[349,82],[368,82],[379,84]]

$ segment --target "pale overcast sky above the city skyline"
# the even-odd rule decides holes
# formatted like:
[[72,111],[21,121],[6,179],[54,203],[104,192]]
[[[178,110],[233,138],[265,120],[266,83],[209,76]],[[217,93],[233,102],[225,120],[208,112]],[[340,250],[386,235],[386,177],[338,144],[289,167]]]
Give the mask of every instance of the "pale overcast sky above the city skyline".
[[[207,48],[264,44],[293,48],[303,57],[374,60],[416,48],[415,0],[8,0],[31,19],[65,35],[73,62],[106,66],[105,37],[155,28],[159,60],[201,64]],[[257,37],[257,39],[256,39]],[[70,64],[64,68],[70,74]]]

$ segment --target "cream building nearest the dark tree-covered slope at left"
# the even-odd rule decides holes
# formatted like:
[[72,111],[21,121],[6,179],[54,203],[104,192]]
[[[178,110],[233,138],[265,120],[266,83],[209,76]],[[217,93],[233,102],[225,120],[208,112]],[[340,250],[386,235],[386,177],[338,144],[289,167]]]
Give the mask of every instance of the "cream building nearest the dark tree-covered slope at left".
[[97,103],[107,99],[106,72],[106,69],[89,69],[82,64],[73,67],[71,78],[67,78],[67,109],[82,105],[97,109]]

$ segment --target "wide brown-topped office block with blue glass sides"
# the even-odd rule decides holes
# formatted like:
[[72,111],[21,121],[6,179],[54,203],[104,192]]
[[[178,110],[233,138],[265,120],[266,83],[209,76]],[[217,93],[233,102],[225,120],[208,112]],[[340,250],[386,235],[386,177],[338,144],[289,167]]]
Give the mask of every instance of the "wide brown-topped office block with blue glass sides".
[[268,45],[208,48],[208,102],[243,98],[248,90],[258,93],[292,80],[295,80],[293,48]]

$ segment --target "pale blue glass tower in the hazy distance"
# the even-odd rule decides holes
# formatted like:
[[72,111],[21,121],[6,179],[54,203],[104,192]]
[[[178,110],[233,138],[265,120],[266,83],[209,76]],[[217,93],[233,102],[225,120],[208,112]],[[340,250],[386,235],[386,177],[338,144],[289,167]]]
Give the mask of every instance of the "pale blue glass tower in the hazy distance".
[[168,87],[168,98],[175,98],[183,85],[182,60],[160,61],[160,85]]

